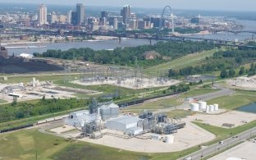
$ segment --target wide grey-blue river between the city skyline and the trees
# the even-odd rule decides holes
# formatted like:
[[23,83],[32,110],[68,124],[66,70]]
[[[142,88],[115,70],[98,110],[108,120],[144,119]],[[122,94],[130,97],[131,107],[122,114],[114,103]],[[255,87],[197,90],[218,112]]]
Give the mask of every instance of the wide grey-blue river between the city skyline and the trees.
[[[237,21],[241,25],[245,25],[245,30],[256,30],[256,21],[240,21],[236,19],[231,19],[232,21]],[[217,34],[195,34],[190,35],[190,37],[204,38],[204,39],[222,39],[222,40],[245,40],[252,39],[254,34],[249,33],[239,33],[232,34],[227,32],[220,32]],[[256,38],[256,36],[255,36]],[[152,43],[157,43],[158,41],[153,40]],[[102,41],[85,41],[85,42],[71,42],[71,43],[42,43],[36,45],[46,46],[44,48],[10,48],[8,49],[9,55],[21,53],[43,53],[48,49],[61,49],[68,50],[70,48],[92,48],[94,50],[101,49],[113,49],[113,48],[125,48],[125,47],[135,47],[139,45],[147,45],[149,40],[147,39],[121,39],[121,43],[117,42],[117,39],[112,40],[102,40]],[[35,45],[35,44],[31,44]]]

